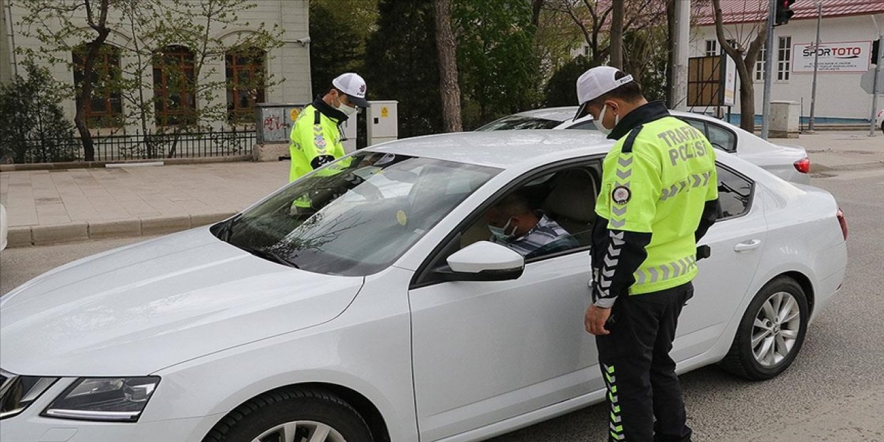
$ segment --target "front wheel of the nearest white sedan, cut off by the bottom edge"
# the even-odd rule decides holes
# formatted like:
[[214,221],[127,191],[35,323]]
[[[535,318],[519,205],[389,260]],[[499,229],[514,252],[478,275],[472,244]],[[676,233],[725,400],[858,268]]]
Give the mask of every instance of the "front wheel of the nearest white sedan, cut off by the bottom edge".
[[[286,431],[297,436],[286,438]],[[283,389],[267,392],[225,415],[202,442],[371,442],[362,416],[338,396],[319,389]],[[300,438],[298,438],[300,436]]]

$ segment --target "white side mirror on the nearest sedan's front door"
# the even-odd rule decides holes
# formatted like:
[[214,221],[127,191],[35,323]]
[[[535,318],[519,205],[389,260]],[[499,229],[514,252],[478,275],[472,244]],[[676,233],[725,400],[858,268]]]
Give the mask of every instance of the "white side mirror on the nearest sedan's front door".
[[470,244],[448,256],[447,262],[448,268],[437,273],[448,281],[507,281],[525,270],[522,255],[491,241]]

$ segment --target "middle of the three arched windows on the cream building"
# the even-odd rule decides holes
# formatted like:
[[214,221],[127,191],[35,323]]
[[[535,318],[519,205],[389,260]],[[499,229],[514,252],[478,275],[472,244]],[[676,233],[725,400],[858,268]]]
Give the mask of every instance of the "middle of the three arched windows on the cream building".
[[167,46],[154,53],[154,111],[156,126],[196,122],[194,53],[183,46]]

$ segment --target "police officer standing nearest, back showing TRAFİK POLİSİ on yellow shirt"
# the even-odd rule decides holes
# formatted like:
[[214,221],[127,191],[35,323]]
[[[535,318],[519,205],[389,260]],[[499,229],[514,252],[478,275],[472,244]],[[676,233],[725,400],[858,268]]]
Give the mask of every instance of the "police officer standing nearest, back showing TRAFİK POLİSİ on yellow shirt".
[[690,441],[669,352],[693,295],[697,240],[718,216],[715,153],[703,133],[648,103],[613,67],[584,72],[577,96],[575,118],[590,113],[616,140],[596,202],[593,302],[584,317],[608,390],[608,439]]

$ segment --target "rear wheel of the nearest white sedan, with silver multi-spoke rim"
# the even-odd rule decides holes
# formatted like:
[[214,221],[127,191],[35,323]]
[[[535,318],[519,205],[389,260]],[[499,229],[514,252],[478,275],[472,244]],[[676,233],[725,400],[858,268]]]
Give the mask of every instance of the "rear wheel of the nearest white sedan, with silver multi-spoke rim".
[[801,350],[809,317],[804,289],[792,278],[773,279],[749,303],[720,366],[751,380],[776,377]]

